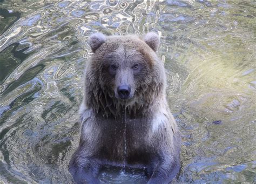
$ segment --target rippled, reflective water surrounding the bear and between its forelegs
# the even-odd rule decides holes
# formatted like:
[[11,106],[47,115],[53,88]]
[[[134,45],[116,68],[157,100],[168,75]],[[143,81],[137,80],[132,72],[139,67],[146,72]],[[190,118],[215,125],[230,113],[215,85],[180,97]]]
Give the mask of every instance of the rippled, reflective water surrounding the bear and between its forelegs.
[[[157,31],[183,134],[174,182],[256,182],[255,8],[224,0],[0,1],[0,181],[72,183],[86,38]],[[113,169],[100,179],[145,182]]]

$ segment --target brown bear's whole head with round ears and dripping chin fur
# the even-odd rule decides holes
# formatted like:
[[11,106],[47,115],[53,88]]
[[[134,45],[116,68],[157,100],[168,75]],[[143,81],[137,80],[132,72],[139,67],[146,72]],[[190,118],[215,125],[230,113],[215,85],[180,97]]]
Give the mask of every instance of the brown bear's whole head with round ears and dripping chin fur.
[[89,38],[89,45],[93,54],[85,74],[86,106],[107,117],[118,115],[123,106],[131,115],[144,114],[164,93],[164,69],[156,54],[159,37],[155,33],[144,38],[96,33]]

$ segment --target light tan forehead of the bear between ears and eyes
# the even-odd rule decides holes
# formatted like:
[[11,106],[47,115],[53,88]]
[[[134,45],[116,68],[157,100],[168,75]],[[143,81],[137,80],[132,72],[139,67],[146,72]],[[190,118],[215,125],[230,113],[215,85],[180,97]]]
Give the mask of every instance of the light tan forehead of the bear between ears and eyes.
[[95,53],[98,57],[109,56],[130,56],[140,57],[149,62],[150,65],[156,63],[158,59],[149,45],[136,35],[110,36]]

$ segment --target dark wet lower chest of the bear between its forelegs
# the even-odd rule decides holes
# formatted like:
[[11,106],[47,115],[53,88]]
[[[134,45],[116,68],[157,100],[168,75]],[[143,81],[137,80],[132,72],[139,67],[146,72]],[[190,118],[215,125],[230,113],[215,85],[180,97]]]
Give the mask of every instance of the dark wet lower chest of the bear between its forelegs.
[[146,129],[134,124],[113,127],[102,134],[99,157],[117,165],[148,165],[153,153],[147,138]]

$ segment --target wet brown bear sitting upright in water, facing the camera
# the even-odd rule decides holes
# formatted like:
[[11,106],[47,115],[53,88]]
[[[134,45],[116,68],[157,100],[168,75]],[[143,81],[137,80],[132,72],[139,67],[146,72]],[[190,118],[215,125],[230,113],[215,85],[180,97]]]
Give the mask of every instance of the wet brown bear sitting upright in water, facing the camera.
[[113,165],[146,168],[148,183],[171,182],[180,169],[180,135],[166,100],[158,35],[95,33],[89,45],[80,143],[69,164],[74,181],[99,183],[100,168]]

